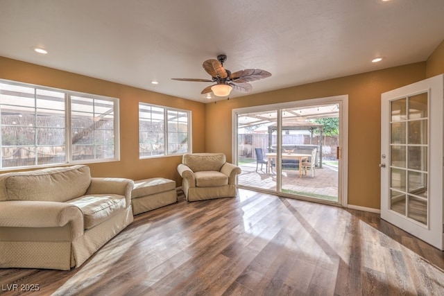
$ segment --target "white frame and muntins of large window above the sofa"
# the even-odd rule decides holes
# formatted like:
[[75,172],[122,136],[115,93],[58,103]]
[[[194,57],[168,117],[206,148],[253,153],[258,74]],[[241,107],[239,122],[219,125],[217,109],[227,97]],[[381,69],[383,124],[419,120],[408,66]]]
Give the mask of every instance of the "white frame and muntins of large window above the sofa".
[[[64,143],[62,143],[61,145],[58,145],[60,147],[65,148],[65,157],[64,161],[60,161],[60,162],[54,162],[54,163],[49,163],[49,164],[32,164],[32,165],[22,165],[22,166],[4,166],[3,167],[3,141],[2,141],[2,137],[3,134],[0,130],[0,171],[15,171],[15,170],[20,170],[20,169],[27,169],[27,168],[44,168],[44,167],[51,167],[51,166],[60,166],[60,165],[67,165],[67,164],[93,164],[93,163],[101,163],[101,162],[116,162],[120,160],[120,113],[119,113],[119,98],[114,98],[114,97],[110,97],[110,96],[101,96],[101,95],[97,95],[97,94],[87,94],[84,92],[75,92],[75,91],[71,91],[68,89],[58,89],[55,87],[46,87],[44,85],[35,85],[32,83],[26,83],[26,82],[19,82],[19,81],[13,81],[13,80],[6,80],[6,79],[0,79],[0,83],[4,84],[4,85],[11,85],[11,86],[15,86],[15,87],[28,87],[31,89],[34,89],[34,98],[37,99],[36,93],[37,90],[42,90],[42,91],[49,91],[49,92],[58,92],[61,94],[64,94],[64,98],[63,98],[63,103],[65,106],[65,110],[59,110],[59,111],[63,111],[64,114],[64,119],[65,119],[65,132],[64,132]],[[0,89],[1,92],[1,89]],[[72,118],[72,114],[71,114],[71,97],[72,96],[78,96],[78,97],[82,97],[82,98],[88,98],[88,99],[92,99],[92,104],[94,105],[94,100],[101,100],[101,101],[110,101],[112,102],[113,105],[113,110],[112,110],[112,114],[113,114],[113,134],[114,134],[114,156],[113,157],[105,157],[105,158],[100,158],[100,159],[78,159],[78,160],[74,160],[73,157],[73,146],[74,144],[72,143],[72,130],[73,127],[71,125],[71,118]],[[3,102],[0,101],[0,106],[3,106]],[[15,107],[21,107],[21,105],[15,105]],[[37,105],[35,105],[33,107],[35,109],[35,114],[37,116],[37,110],[40,109],[39,107],[37,107]],[[0,110],[1,111],[1,110]],[[0,119],[1,119],[1,113],[0,113]],[[3,127],[3,124],[0,121],[0,128]],[[37,126],[34,127],[36,130],[39,128]],[[96,128],[94,128],[94,130],[96,130]],[[95,137],[93,138],[95,139]],[[17,145],[15,147],[19,147],[19,146],[23,146],[23,145]],[[39,145],[39,143],[37,143],[36,141],[34,141],[34,143],[31,145],[33,147],[35,147],[35,150],[37,151],[37,148],[42,147]],[[49,145],[51,146],[51,145]],[[94,150],[96,149],[97,146],[100,146],[99,144],[97,144],[95,141],[92,144],[92,146],[94,146]],[[14,147],[14,146],[10,146],[10,147]],[[95,154],[94,154],[95,155]],[[36,162],[38,162],[38,156],[36,159]]]

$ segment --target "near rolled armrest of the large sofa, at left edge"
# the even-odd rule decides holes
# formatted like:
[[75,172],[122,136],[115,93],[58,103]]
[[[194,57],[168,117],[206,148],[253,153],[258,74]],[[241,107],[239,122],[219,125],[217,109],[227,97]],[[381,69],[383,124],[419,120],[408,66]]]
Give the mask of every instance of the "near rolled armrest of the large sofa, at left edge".
[[71,223],[71,238],[83,235],[83,214],[73,204],[9,200],[0,202],[0,227],[62,227]]

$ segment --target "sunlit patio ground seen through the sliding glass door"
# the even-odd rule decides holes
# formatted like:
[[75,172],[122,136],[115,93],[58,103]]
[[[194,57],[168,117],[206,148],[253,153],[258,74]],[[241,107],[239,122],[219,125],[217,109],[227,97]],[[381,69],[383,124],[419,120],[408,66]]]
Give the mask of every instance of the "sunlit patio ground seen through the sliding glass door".
[[[276,173],[266,173],[266,167],[256,172],[256,162],[239,164],[242,170],[238,184],[250,188],[268,189],[276,191]],[[315,177],[311,172],[299,177],[298,168],[284,168],[282,170],[282,191],[296,195],[305,195],[323,200],[338,200],[338,172],[334,166],[323,164],[322,168],[315,169]]]

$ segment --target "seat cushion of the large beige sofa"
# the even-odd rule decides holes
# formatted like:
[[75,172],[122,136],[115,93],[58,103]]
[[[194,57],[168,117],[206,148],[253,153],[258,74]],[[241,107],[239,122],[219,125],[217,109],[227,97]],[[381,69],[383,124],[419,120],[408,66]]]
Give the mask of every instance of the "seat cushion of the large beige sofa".
[[83,213],[83,228],[90,229],[108,220],[115,212],[125,209],[125,196],[117,194],[84,195],[67,201]]

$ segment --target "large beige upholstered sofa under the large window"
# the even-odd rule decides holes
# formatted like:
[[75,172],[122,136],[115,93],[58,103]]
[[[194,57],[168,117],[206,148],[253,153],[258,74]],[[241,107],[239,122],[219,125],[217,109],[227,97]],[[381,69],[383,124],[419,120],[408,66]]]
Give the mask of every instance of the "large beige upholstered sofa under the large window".
[[133,180],[84,165],[0,175],[0,268],[69,270],[133,221]]

